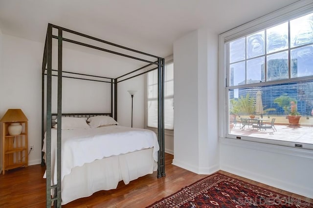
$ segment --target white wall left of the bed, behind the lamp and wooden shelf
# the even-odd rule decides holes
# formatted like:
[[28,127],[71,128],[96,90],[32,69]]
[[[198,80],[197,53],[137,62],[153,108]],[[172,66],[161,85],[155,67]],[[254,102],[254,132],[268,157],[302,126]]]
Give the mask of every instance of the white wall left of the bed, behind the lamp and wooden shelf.
[[28,143],[34,145],[29,164],[41,157],[41,73],[43,44],[3,35],[3,95],[0,117],[10,108],[21,108],[28,118]]

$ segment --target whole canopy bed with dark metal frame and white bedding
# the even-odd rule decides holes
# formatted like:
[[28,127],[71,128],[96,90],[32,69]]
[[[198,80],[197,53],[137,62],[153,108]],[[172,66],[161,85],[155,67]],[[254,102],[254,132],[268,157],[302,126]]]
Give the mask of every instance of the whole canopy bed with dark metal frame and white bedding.
[[[57,35],[53,35],[55,32],[57,32]],[[117,49],[114,51],[110,48],[109,50],[65,38],[64,32],[105,43],[108,46],[114,46],[130,53],[120,53],[120,50]],[[53,38],[57,39],[58,42],[57,70],[52,69],[52,59],[54,58],[52,56],[52,47],[55,47],[52,44]],[[94,76],[63,71],[63,41],[121,57],[132,58],[148,64],[118,77]],[[150,130],[122,127],[117,123],[118,83],[152,70],[158,71],[157,137]],[[52,76],[57,77],[56,113],[52,113]],[[62,78],[64,77],[110,83],[111,112],[62,113]],[[110,120],[109,123],[107,123],[108,120]],[[164,58],[49,23],[42,65],[42,138],[42,165],[46,166],[46,207],[51,207],[52,203],[57,207],[61,207],[61,204],[90,196],[95,191],[115,189],[117,183],[121,180],[127,184],[129,181],[152,173],[156,169],[157,178],[165,176]],[[115,141],[115,143],[112,141]],[[107,142],[107,145],[102,142]],[[123,143],[125,145],[121,145]],[[118,148],[118,151],[116,151],[117,146],[123,147]],[[89,154],[90,148],[92,151]],[[86,175],[90,175],[90,177],[86,178]],[[78,184],[77,181],[81,182]]]

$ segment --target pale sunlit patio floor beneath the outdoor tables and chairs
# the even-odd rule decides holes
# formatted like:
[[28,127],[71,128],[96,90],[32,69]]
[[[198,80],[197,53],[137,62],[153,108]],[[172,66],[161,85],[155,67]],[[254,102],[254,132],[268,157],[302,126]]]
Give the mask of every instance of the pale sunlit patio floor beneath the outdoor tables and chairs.
[[260,131],[252,129],[252,126],[246,127],[244,130],[240,130],[240,124],[231,130],[231,134],[260,137],[266,139],[284,140],[291,142],[301,142],[307,144],[313,144],[313,125],[311,126],[286,126],[275,125],[277,132],[273,132],[272,129],[266,131]]

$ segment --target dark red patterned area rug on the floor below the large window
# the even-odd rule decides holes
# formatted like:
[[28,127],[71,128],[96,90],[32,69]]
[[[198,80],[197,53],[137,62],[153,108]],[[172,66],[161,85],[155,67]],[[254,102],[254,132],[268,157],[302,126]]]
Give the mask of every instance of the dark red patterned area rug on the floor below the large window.
[[215,173],[147,208],[313,208],[313,200],[292,198]]

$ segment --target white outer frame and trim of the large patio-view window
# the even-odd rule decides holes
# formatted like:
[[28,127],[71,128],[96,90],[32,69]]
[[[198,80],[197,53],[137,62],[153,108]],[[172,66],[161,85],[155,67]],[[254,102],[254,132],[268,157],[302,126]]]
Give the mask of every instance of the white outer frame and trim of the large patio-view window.
[[[282,9],[279,9],[273,13],[265,15],[259,19],[255,19],[250,21],[246,24],[243,24],[239,27],[236,27],[232,30],[229,30],[219,36],[219,106],[221,106],[219,113],[220,113],[220,120],[219,120],[219,135],[220,138],[229,138],[229,139],[236,139],[236,135],[228,134],[227,128],[229,123],[229,116],[228,116],[228,91],[226,89],[226,77],[228,73],[228,64],[227,54],[228,48],[225,46],[225,43],[230,42],[232,40],[236,40],[239,38],[243,38],[247,35],[262,31],[266,28],[278,25],[280,23],[286,22],[290,19],[295,19],[300,16],[304,16],[306,14],[313,12],[313,2],[312,0],[301,0],[297,1],[289,6],[286,6]],[[303,78],[295,78],[295,80],[302,80]],[[253,84],[251,84],[252,86]],[[246,86],[246,85],[245,85]],[[240,87],[240,86],[236,86]],[[294,147],[295,142],[288,142],[288,141],[280,141],[280,140],[271,140],[271,139],[264,139],[258,137],[245,137],[241,136],[241,140],[246,141],[253,141],[259,143],[267,143],[267,144],[274,144],[280,146],[288,146]],[[313,150],[312,144],[303,144],[303,149],[310,149]]]

